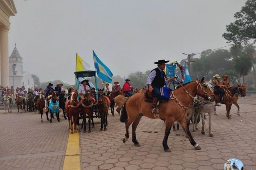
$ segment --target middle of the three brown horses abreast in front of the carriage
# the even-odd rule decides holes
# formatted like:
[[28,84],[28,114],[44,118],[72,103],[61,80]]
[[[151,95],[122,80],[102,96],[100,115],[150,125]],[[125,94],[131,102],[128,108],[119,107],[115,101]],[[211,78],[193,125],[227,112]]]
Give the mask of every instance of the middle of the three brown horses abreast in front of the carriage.
[[[84,126],[84,132],[86,132],[86,115],[88,115],[88,123],[89,123],[89,130],[88,132],[91,132],[90,130],[90,120],[93,121],[93,105],[94,102],[92,100],[92,93],[90,91],[86,91],[84,94],[84,98],[81,99],[81,108],[83,111],[83,122],[81,125],[81,128]],[[93,123],[94,127],[94,123]]]

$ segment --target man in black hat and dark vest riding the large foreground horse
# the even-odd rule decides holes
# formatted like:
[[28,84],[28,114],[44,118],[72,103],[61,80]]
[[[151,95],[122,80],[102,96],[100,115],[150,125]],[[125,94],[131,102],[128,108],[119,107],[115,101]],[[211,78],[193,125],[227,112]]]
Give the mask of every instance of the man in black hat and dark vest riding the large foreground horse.
[[158,62],[154,62],[157,64],[157,68],[151,71],[147,79],[148,90],[153,91],[153,103],[151,106],[151,113],[157,114],[159,113],[157,102],[160,100],[161,94],[159,88],[162,88],[164,85],[169,82],[175,80],[175,78],[171,78],[169,80],[165,80],[166,74],[164,73],[164,69],[166,67],[166,61],[164,59],[158,60]]

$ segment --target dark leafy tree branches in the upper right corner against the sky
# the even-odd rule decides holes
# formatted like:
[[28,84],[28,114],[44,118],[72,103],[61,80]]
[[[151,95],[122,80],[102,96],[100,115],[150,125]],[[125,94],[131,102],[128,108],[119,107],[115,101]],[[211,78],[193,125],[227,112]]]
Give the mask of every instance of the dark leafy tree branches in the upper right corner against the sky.
[[245,44],[250,40],[256,42],[256,0],[247,0],[241,11],[234,14],[236,21],[226,26],[224,37],[228,42]]

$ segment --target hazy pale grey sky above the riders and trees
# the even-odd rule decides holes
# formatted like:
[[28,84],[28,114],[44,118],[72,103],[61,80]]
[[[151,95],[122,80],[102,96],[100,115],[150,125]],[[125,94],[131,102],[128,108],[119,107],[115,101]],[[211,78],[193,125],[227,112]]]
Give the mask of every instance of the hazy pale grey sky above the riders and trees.
[[127,77],[154,69],[159,59],[180,62],[186,57],[182,53],[228,45],[222,34],[246,0],[14,2],[9,55],[16,43],[24,71],[41,82],[74,84],[76,53],[94,70],[94,50],[114,76]]

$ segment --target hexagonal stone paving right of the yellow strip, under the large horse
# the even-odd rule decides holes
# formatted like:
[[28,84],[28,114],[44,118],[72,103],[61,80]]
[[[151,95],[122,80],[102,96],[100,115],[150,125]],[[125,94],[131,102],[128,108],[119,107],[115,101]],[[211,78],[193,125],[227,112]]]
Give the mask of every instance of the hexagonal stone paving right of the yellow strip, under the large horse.
[[[256,169],[256,98],[239,99],[240,115],[232,108],[232,119],[225,117],[224,105],[217,108],[213,116],[212,132],[208,136],[201,131],[192,132],[201,150],[194,150],[183,130],[172,131],[169,136],[171,153],[162,147],[165,125],[163,121],[143,117],[137,127],[137,140],[141,147],[135,147],[131,138],[124,144],[125,124],[119,116],[109,116],[107,131],[99,132],[100,124],[91,133],[80,133],[81,164],[84,170],[223,170],[227,159],[238,158],[244,169]],[[250,103],[250,104],[242,104]],[[97,121],[99,122],[99,120]],[[201,128],[201,124],[199,126]],[[145,132],[148,131],[148,132]],[[154,133],[155,132],[155,133]],[[156,133],[157,132],[157,133]],[[131,134],[131,127],[130,127]]]

